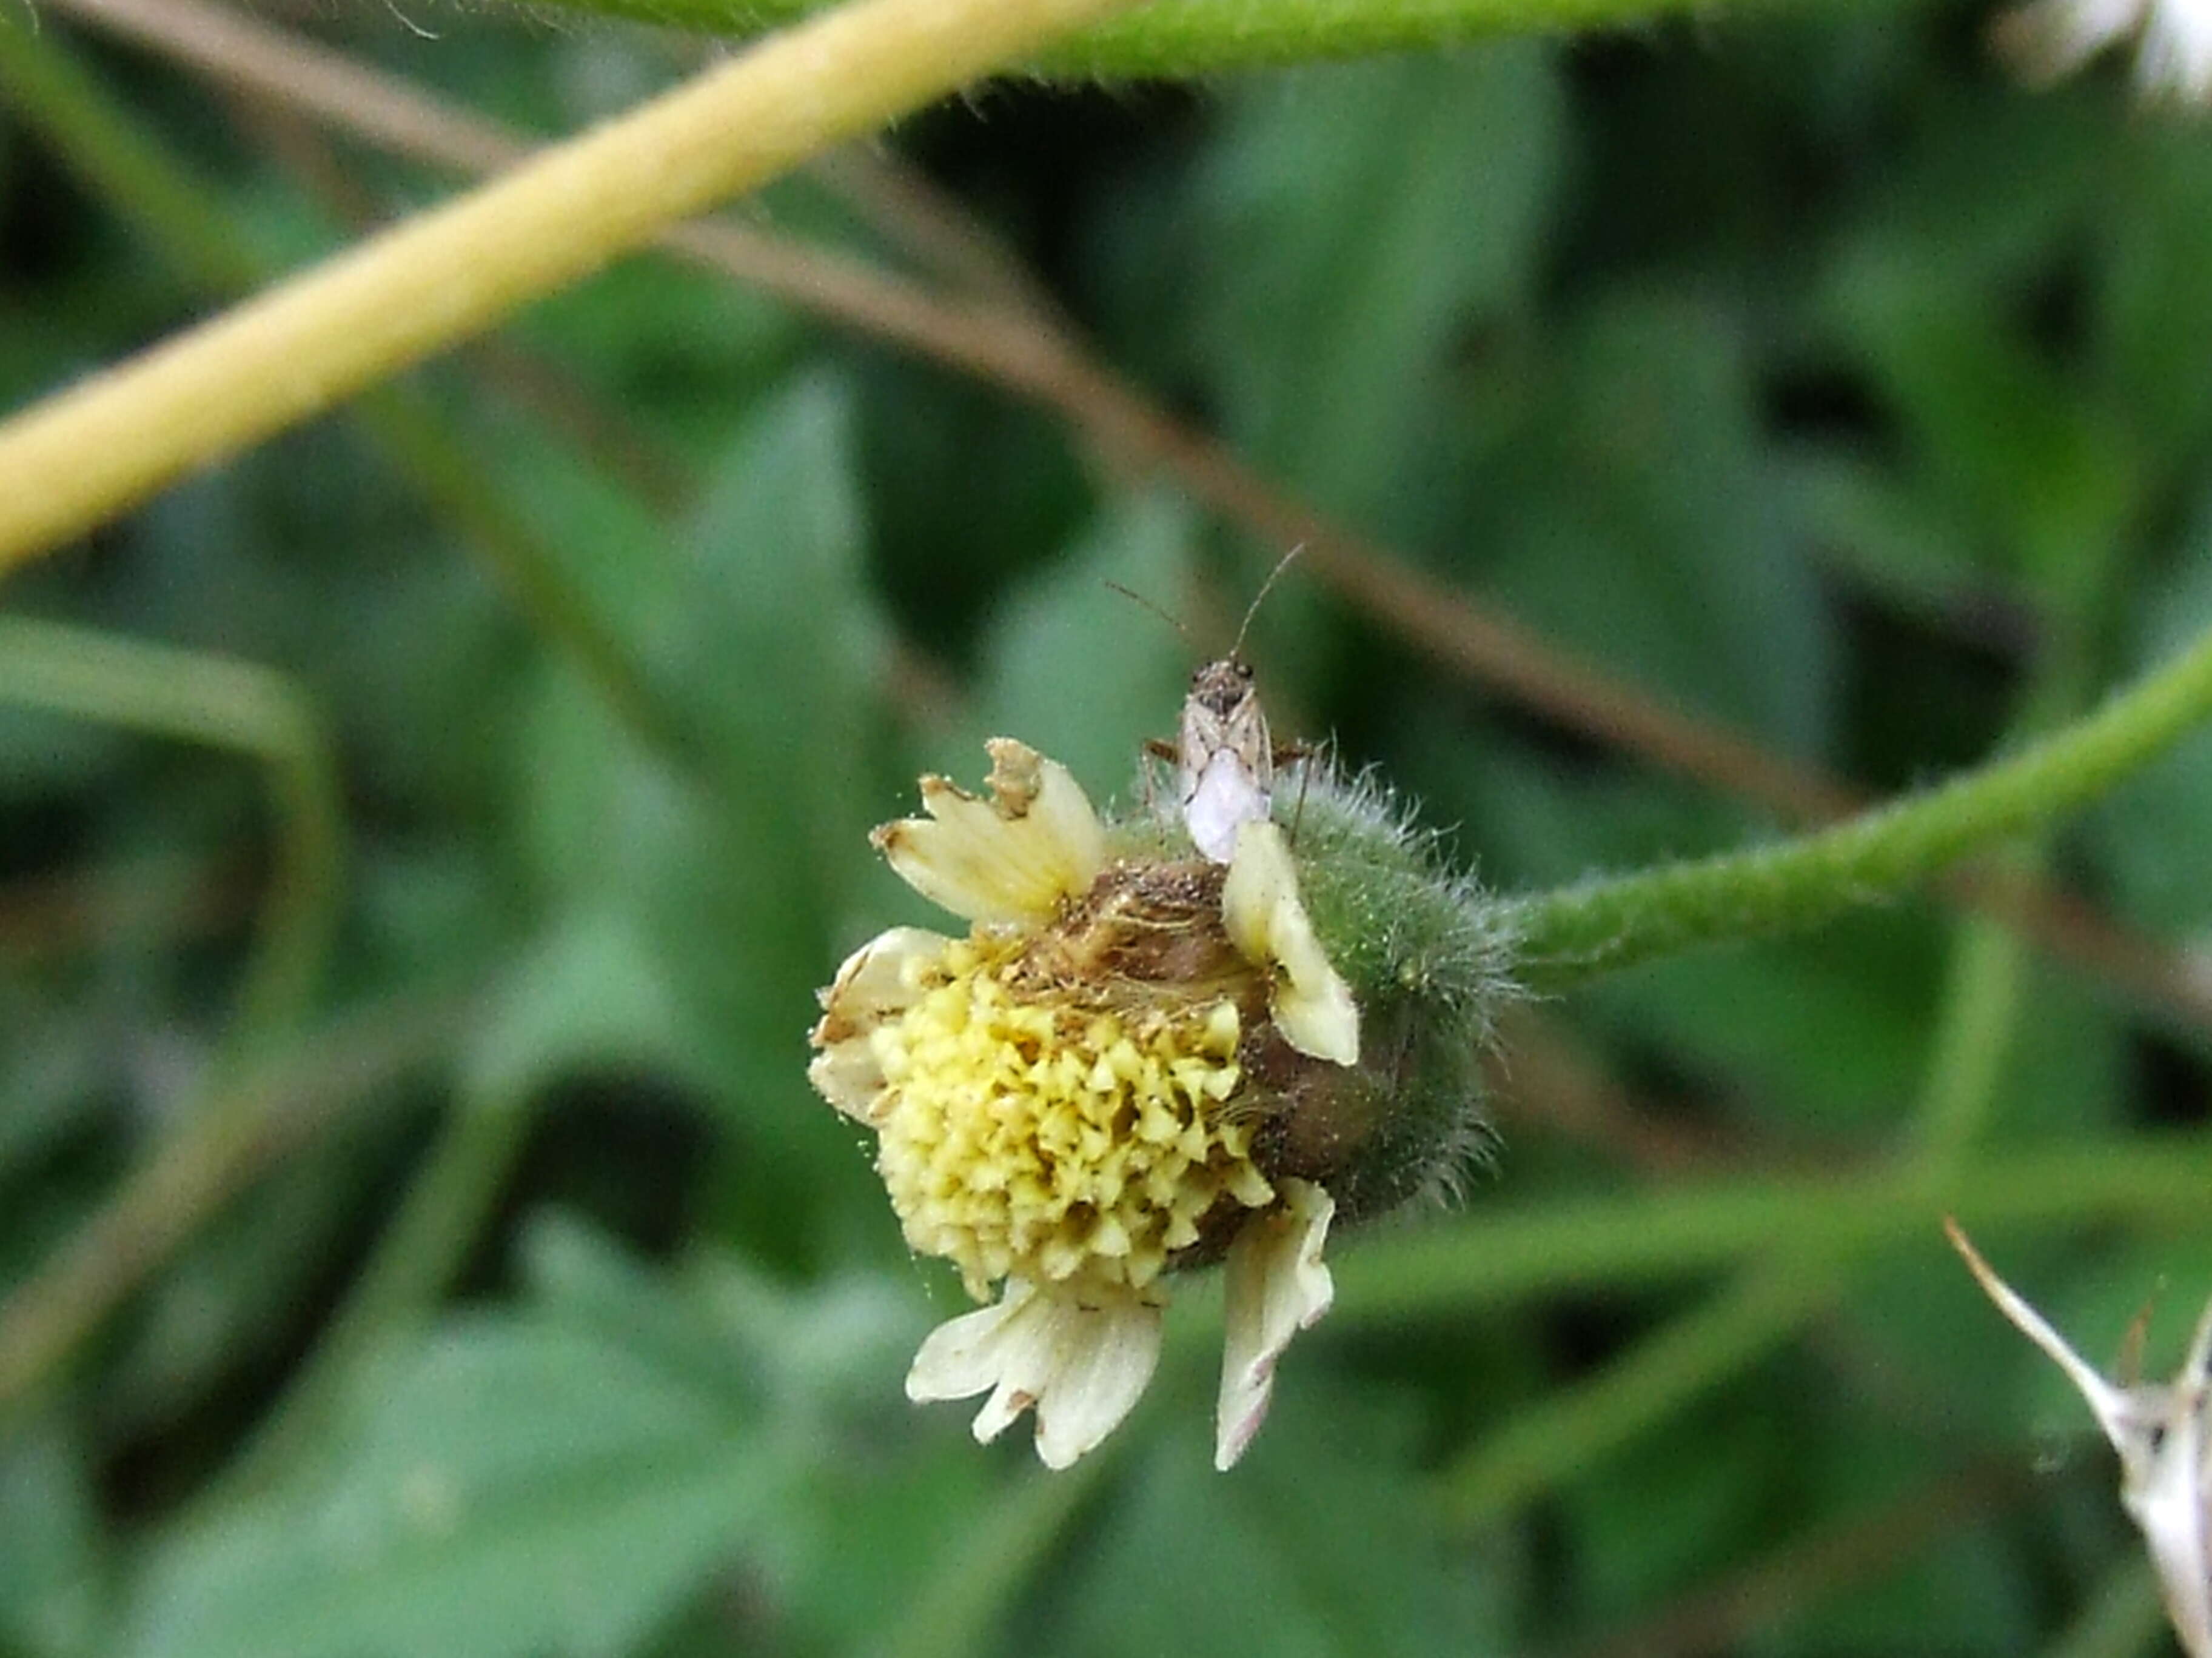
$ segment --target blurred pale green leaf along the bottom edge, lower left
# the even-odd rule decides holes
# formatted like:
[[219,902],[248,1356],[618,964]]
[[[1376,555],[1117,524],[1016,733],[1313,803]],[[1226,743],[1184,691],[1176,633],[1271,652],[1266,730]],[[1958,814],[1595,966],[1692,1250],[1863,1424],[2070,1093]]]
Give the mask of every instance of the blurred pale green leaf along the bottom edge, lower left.
[[774,1536],[785,1441],[586,1320],[449,1320],[361,1377],[334,1475],[166,1539],[131,1658],[622,1654]]

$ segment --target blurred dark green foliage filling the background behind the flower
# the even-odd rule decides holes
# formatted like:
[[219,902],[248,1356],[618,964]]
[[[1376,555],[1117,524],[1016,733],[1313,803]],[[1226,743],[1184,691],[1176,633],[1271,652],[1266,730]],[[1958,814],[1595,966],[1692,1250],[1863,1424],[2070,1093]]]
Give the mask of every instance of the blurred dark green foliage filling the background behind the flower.
[[[418,22],[440,38],[376,7],[319,29],[542,130],[668,73],[666,42],[611,27]],[[2212,141],[2117,77],[2015,91],[1978,24],[1869,7],[995,88],[898,144],[1279,486],[1666,703],[1900,787],[2212,617]],[[429,195],[53,33],[257,256]],[[332,172],[361,201],[334,208]],[[757,212],[885,256],[823,179]],[[0,102],[11,405],[208,305]],[[803,1079],[814,986],[927,920],[867,827],[918,769],[978,776],[995,732],[1130,789],[1194,646],[1106,584],[1219,639],[1281,548],[1033,407],[650,261],[418,391],[633,701],[345,418],[7,597],[263,663],[321,710],[349,858],[294,1057],[325,1015],[469,1001],[15,1402],[0,1654],[2013,1658],[2126,1570],[2106,1457],[2033,1468],[2084,1415],[1933,1229],[1796,1260],[1836,1273],[1803,1315],[1509,1512],[1453,1508],[1440,1475],[1719,1280],[1323,1326],[1232,1477],[1188,1309],[1135,1419],[1060,1481],[1020,1433],[978,1450],[960,1413],[911,1410],[907,1355],[958,1291],[905,1256]],[[1296,566],[1250,654],[1279,730],[1334,732],[1495,886],[1772,829],[1447,674]],[[279,856],[261,789],[237,754],[0,710],[0,1289],[261,1057],[230,1046]],[[2212,736],[2044,856],[2188,948],[2208,809]],[[1502,1156],[1462,1218],[1418,1225],[1480,1251],[1500,1207],[1893,1152],[1958,931],[1898,904],[1542,1008],[1586,1079],[1509,1050]],[[2212,1032],[2024,975],[1989,1145],[2203,1136]],[[1590,1085],[1650,1132],[1555,1110]],[[1995,1253],[2093,1355],[2170,1284],[2152,1368],[2212,1293],[2208,1222]]]

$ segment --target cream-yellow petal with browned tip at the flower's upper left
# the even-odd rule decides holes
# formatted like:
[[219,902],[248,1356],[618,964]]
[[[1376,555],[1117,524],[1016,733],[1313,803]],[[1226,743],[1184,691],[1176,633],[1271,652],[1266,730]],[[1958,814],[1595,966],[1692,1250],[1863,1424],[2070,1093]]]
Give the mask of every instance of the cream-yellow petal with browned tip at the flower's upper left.
[[922,898],[971,922],[1037,924],[1091,889],[1106,827],[1057,760],[993,736],[989,798],[922,778],[927,818],[883,825],[874,840]]

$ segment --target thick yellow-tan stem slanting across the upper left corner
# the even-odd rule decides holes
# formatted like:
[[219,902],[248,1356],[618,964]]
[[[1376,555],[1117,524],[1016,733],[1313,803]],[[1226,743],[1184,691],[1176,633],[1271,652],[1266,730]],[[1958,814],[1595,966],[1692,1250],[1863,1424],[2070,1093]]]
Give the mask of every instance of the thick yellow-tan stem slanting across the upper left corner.
[[856,0],[0,424],[0,570],[1130,0]]

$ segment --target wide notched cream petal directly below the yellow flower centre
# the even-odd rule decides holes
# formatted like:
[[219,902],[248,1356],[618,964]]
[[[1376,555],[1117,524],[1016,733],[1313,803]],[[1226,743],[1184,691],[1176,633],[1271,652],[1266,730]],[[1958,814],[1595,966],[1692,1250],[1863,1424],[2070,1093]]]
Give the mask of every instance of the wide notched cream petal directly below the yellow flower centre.
[[940,1324],[914,1355],[907,1397],[991,1397],[975,1437],[998,1439],[1035,1406],[1037,1457],[1066,1468],[1119,1426],[1159,1364],[1159,1307],[1135,1295],[1084,1304],[1006,1280],[998,1307]]

